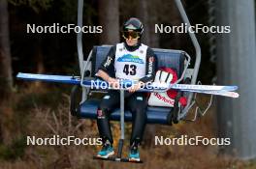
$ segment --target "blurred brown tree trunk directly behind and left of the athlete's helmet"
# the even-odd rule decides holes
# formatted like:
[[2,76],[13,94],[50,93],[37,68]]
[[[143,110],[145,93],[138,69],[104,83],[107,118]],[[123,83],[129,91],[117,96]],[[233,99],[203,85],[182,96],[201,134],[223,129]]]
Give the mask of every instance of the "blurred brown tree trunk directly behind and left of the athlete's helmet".
[[114,44],[119,42],[119,1],[99,0],[99,20],[103,26],[100,37],[101,44]]

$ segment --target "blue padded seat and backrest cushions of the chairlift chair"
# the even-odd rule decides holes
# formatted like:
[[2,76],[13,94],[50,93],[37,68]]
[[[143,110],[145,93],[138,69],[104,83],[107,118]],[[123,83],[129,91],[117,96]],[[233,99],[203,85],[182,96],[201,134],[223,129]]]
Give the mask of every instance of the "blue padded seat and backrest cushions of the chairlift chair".
[[[110,45],[101,45],[94,46],[92,50],[92,70],[91,74],[95,74],[99,66],[106,58],[108,52],[112,46]],[[157,69],[161,67],[172,68],[176,70],[178,77],[181,76],[184,65],[185,65],[185,52],[182,50],[172,50],[172,49],[159,49],[153,48],[154,54],[157,58]],[[79,111],[77,116],[82,119],[96,119],[97,118],[97,108],[100,100],[98,99],[87,99],[80,103]],[[172,113],[173,107],[154,107],[147,106],[146,116],[148,124],[161,124],[161,125],[170,125],[170,116]],[[112,121],[120,120],[119,108],[112,112],[110,117]],[[131,112],[125,110],[124,116],[125,122],[132,121]]]

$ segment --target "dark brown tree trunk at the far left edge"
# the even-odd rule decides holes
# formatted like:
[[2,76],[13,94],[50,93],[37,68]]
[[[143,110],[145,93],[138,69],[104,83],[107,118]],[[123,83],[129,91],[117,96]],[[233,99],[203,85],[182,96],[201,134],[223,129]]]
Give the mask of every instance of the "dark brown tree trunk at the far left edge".
[[13,88],[12,59],[9,39],[8,3],[0,0],[0,94],[10,98]]

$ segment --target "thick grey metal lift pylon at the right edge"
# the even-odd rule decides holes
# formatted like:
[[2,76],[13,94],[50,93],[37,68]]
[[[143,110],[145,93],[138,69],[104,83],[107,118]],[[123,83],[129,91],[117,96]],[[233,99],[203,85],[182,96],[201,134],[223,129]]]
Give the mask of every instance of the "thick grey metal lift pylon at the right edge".
[[217,25],[230,25],[230,34],[217,35],[219,84],[240,87],[240,99],[218,98],[221,137],[230,137],[224,153],[242,159],[256,157],[256,50],[254,0],[217,0]]

